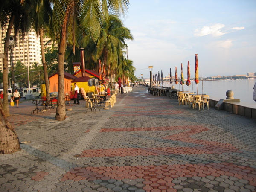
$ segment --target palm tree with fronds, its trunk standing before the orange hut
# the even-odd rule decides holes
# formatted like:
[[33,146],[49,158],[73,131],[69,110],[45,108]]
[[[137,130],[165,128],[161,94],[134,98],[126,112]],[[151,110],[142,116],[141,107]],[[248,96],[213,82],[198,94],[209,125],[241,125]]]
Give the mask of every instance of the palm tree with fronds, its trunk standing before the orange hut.
[[[66,119],[64,94],[64,55],[66,41],[72,45],[75,52],[76,30],[79,25],[90,29],[93,39],[99,37],[99,18],[102,5],[106,4],[113,12],[125,12],[128,0],[55,0],[53,2],[50,32],[58,38],[58,103],[55,120]],[[81,17],[80,17],[81,16]],[[79,23],[80,22],[80,23]]]

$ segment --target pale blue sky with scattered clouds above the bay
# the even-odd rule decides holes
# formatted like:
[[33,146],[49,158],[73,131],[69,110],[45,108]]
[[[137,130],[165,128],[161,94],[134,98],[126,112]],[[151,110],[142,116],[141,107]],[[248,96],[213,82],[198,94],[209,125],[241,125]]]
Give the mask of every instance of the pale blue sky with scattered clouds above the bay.
[[195,54],[199,76],[247,75],[256,72],[256,0],[129,0],[123,19],[134,41],[128,59],[135,76],[149,78],[163,70],[168,76],[175,66],[180,76],[187,63],[195,77]]

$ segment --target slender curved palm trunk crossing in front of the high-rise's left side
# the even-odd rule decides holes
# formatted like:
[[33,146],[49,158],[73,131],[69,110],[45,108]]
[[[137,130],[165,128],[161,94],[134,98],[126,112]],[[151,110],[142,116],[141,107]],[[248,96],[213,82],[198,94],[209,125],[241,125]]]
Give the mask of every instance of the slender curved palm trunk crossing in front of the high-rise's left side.
[[[12,26],[15,16],[12,15],[9,20],[8,28],[6,31],[6,41],[4,42],[4,51],[3,54],[3,111],[5,116],[10,116],[9,103],[8,103],[8,49],[9,49],[9,40],[11,37]],[[12,58],[10,58],[12,59]]]

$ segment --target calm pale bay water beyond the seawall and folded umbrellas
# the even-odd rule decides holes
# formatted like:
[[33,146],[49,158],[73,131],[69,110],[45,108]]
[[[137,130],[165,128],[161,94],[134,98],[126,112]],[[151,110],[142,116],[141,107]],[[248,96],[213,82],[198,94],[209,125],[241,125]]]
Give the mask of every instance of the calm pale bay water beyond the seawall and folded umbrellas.
[[[256,107],[256,102],[253,100],[253,86],[256,82],[256,79],[238,79],[238,80],[214,80],[214,81],[199,81],[199,84],[195,84],[194,81],[191,81],[191,85],[183,85],[185,91],[192,91],[201,94],[207,94],[213,99],[226,99],[227,90],[233,90],[234,99],[240,99],[240,102],[249,103],[252,106]],[[186,83],[186,81],[185,81]],[[182,85],[174,84],[172,85],[178,89],[182,89]],[[160,84],[161,86],[161,84]],[[169,82],[163,82],[163,86],[171,87]]]

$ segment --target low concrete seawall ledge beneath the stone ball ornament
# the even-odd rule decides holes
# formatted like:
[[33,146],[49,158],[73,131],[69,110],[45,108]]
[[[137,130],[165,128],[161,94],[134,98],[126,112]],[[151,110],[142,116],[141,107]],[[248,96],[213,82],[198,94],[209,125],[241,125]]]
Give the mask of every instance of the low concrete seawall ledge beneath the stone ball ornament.
[[249,103],[240,102],[239,99],[210,99],[209,106],[216,110],[224,110],[241,116],[256,119],[256,107]]

